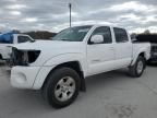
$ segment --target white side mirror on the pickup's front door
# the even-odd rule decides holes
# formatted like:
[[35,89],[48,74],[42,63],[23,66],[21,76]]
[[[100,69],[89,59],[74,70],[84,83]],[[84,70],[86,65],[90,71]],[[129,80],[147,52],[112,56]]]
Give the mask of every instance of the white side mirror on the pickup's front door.
[[101,44],[104,43],[104,36],[102,35],[93,35],[90,38],[90,44]]

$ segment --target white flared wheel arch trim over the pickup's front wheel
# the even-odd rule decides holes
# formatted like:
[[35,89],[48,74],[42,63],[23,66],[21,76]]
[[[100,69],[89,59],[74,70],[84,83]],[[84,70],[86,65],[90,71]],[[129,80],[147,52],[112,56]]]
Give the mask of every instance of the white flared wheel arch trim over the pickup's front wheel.
[[86,69],[86,64],[87,62],[84,61],[84,56],[81,54],[63,54],[63,55],[58,55],[56,57],[52,57],[51,59],[47,60],[44,66],[40,68],[33,88],[34,90],[39,90],[47,75],[49,74],[49,72],[55,69],[57,66],[62,64],[64,62],[70,62],[70,61],[78,61],[80,66],[81,66],[81,70],[84,72],[84,75],[86,75],[87,73],[87,69]]

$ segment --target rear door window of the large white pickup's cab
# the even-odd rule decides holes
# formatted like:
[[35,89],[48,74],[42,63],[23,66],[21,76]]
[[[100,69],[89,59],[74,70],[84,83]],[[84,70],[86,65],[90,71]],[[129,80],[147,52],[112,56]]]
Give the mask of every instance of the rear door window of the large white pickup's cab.
[[129,42],[128,34],[125,30],[113,27],[116,42],[117,43],[125,43]]

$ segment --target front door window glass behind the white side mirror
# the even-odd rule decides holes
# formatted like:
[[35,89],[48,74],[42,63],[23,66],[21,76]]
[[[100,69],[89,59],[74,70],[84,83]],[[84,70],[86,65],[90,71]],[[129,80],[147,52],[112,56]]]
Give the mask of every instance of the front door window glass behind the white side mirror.
[[110,44],[110,43],[112,43],[110,27],[108,27],[108,26],[97,27],[93,32],[92,36],[93,35],[102,35],[104,36],[104,44]]

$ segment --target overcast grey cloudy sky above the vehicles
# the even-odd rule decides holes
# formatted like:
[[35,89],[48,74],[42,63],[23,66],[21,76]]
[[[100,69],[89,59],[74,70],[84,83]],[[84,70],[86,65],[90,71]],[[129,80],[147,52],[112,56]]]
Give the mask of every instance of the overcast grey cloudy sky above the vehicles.
[[0,31],[52,31],[72,25],[108,24],[130,32],[157,32],[157,0],[0,0]]

